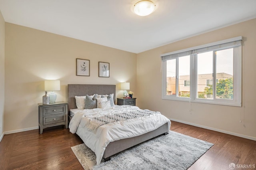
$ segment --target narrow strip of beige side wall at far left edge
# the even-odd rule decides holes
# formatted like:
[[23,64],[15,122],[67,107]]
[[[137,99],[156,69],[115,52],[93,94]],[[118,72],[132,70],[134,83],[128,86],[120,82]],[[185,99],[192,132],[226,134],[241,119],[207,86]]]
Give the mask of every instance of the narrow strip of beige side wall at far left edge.
[[4,133],[4,27],[4,18],[0,12],[0,141]]

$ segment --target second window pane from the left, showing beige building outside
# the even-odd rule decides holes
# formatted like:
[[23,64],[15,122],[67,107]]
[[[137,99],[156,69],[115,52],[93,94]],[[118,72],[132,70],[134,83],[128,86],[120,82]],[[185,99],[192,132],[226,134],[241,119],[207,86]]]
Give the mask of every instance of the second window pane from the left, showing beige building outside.
[[[190,97],[190,55],[179,57],[179,94],[178,97]],[[186,81],[186,84],[184,84]]]

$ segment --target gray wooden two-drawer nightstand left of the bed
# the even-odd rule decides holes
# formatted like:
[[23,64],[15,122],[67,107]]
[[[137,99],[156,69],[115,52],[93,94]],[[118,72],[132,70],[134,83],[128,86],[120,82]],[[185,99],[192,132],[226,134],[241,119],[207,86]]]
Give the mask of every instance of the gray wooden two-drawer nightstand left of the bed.
[[38,103],[38,107],[40,134],[47,127],[65,125],[68,128],[68,103],[56,102],[48,105]]

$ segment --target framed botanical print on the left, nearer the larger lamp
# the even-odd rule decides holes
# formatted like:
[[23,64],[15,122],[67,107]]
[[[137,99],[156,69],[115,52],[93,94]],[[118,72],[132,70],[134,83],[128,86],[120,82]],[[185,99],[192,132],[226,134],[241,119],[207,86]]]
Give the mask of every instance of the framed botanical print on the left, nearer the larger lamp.
[[90,60],[76,59],[76,75],[90,76]]

